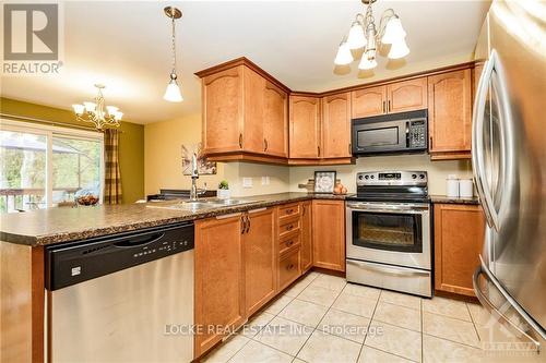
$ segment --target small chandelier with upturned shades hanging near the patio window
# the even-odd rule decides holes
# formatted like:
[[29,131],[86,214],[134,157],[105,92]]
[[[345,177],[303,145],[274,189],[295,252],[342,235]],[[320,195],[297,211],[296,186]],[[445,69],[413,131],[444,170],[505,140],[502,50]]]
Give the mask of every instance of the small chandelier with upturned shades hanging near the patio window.
[[75,119],[80,122],[91,122],[97,130],[104,130],[105,126],[119,126],[119,121],[123,117],[123,112],[119,111],[116,106],[106,106],[103,97],[102,84],[96,84],[98,90],[94,102],[83,102],[83,105],[72,105],[75,112]]

